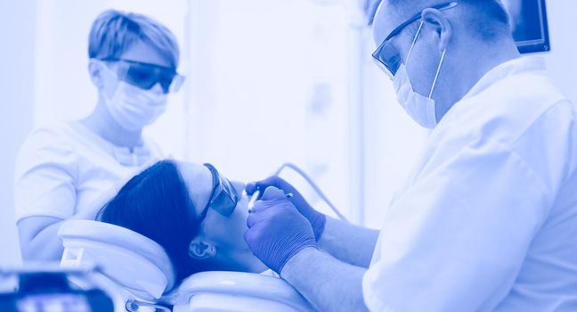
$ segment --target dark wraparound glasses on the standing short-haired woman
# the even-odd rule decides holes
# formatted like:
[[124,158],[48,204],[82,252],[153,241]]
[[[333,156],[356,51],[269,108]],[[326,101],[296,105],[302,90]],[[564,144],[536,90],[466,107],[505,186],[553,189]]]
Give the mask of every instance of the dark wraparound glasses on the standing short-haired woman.
[[102,61],[117,62],[118,78],[145,90],[159,83],[163,92],[167,94],[177,92],[183,86],[184,77],[173,68],[116,58],[106,58]]

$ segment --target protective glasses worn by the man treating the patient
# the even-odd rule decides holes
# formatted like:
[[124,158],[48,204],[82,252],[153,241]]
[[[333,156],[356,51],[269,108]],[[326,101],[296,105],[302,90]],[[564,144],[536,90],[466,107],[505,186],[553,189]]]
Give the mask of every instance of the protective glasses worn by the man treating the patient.
[[[431,9],[443,11],[443,10],[451,9],[451,8],[455,7],[456,5],[457,5],[456,2],[451,2],[451,3],[447,3],[447,4],[439,4],[439,5],[432,6]],[[377,50],[375,50],[375,52],[372,53],[372,57],[377,62],[378,67],[381,70],[385,71],[386,75],[391,79],[394,78],[394,75],[396,74],[397,70],[399,70],[399,67],[401,66],[401,54],[391,44],[390,40],[392,37],[400,34],[402,29],[409,26],[409,24],[412,23],[413,21],[419,21],[422,13],[423,12],[421,11],[418,14],[415,14],[409,20],[403,22],[397,28],[393,29],[393,31],[391,31],[391,33],[388,36],[386,36],[385,40],[383,40],[383,43],[378,46]],[[412,45],[415,44],[416,40],[417,40],[417,36],[415,36],[415,38],[413,39],[413,42],[411,44],[411,49],[412,49]]]

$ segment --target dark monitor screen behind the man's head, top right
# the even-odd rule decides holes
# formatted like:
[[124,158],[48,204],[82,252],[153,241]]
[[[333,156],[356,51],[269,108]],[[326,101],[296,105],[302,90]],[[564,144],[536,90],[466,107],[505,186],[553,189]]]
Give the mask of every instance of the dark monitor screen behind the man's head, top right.
[[508,9],[520,53],[549,51],[545,0],[501,0]]

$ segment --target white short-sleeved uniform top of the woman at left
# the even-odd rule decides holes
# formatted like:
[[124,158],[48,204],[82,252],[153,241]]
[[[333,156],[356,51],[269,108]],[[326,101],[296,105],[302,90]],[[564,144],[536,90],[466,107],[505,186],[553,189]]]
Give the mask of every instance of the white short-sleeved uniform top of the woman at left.
[[16,221],[32,216],[66,219],[102,205],[143,166],[163,156],[144,139],[129,151],[93,133],[78,121],[38,127],[16,159]]

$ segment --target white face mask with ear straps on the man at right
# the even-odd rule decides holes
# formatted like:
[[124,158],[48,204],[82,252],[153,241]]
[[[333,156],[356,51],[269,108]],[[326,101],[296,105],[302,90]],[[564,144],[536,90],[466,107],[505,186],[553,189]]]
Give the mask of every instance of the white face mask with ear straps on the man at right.
[[407,73],[406,63],[409,61],[410,53],[412,52],[413,46],[419,37],[420,29],[423,27],[423,22],[419,25],[419,30],[410,45],[410,50],[407,55],[407,59],[404,64],[399,66],[399,69],[394,74],[393,85],[394,91],[397,95],[397,100],[401,104],[402,108],[407,112],[407,114],[415,120],[421,127],[434,128],[437,125],[436,114],[435,114],[435,100],[431,98],[433,91],[435,90],[435,85],[437,78],[439,77],[439,72],[441,71],[441,66],[443,65],[444,55],[447,50],[443,51],[441,56],[441,61],[437,67],[435,73],[435,79],[433,80],[433,85],[428,94],[425,97],[421,94],[416,93],[410,84],[409,74]]

